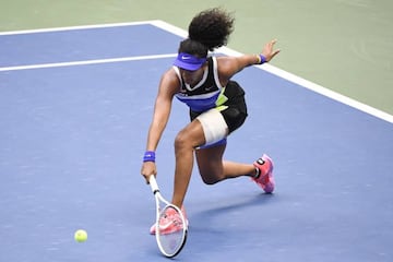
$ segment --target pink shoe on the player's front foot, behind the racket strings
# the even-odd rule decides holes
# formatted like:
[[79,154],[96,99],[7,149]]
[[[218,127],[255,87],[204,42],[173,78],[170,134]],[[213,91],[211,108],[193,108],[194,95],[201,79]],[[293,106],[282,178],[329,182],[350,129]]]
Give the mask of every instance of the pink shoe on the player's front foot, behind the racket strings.
[[[181,206],[181,212],[186,218],[186,223],[188,225],[188,219],[186,216],[186,210],[183,206]],[[155,228],[155,224],[153,224],[153,226],[150,229],[150,234],[151,235],[155,235],[156,228]],[[160,234],[165,235],[165,234],[171,234],[171,233],[176,233],[179,230],[182,230],[182,223],[181,223],[181,218],[179,216],[179,214],[177,212],[175,212],[175,210],[167,210],[167,213],[165,214],[164,217],[162,217],[159,219],[159,229],[160,229]]]

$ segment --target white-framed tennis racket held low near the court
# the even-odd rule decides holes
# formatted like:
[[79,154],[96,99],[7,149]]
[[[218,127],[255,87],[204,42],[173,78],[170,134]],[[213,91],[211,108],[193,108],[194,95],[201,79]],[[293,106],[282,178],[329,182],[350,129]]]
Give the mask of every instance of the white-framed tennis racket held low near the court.
[[148,182],[156,202],[155,235],[158,249],[165,257],[174,258],[184,247],[187,221],[179,207],[163,198],[154,175],[150,176]]

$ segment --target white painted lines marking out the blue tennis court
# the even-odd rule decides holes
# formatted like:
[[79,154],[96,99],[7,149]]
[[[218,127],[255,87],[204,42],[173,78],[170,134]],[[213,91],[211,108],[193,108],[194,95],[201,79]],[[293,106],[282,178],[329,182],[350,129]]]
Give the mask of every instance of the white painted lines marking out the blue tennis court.
[[[16,34],[34,34],[34,33],[46,33],[46,32],[59,32],[59,31],[72,31],[72,29],[90,29],[90,28],[104,28],[104,27],[116,27],[116,26],[129,26],[129,25],[143,25],[143,24],[152,24],[156,27],[165,29],[171,34],[178,35],[180,37],[187,37],[188,33],[184,29],[181,29],[177,26],[168,24],[164,21],[153,20],[153,21],[141,21],[141,22],[131,22],[131,23],[115,23],[115,24],[98,24],[98,25],[83,25],[83,26],[69,26],[69,27],[55,27],[55,28],[43,28],[43,29],[31,29],[31,31],[13,31],[13,32],[0,32],[1,35],[16,35]],[[176,48],[176,47],[175,47]],[[237,52],[230,48],[223,47],[219,48],[217,51],[223,52],[229,56],[240,56],[242,53]],[[46,64],[33,64],[33,66],[20,66],[20,67],[8,67],[8,68],[0,68],[0,71],[11,71],[11,70],[26,70],[26,69],[38,69],[38,68],[53,68],[53,67],[72,67],[72,66],[82,66],[82,64],[93,64],[93,63],[106,63],[106,62],[121,62],[121,61],[131,61],[131,60],[142,60],[142,59],[157,59],[157,58],[168,58],[168,57],[176,57],[176,53],[170,55],[158,55],[158,56],[141,56],[141,57],[127,57],[127,58],[114,58],[114,59],[97,59],[97,60],[86,60],[86,61],[74,61],[74,62],[62,62],[62,63],[46,63]],[[282,69],[278,69],[272,64],[263,64],[263,66],[255,66],[261,70],[275,74],[282,79],[285,79],[289,82],[298,84],[305,88],[313,91],[318,94],[324,95],[330,97],[334,100],[341,102],[345,105],[354,107],[358,110],[383,119],[388,122],[393,123],[393,116],[368,106],[364,103],[344,96],[340,93],[331,91],[326,87],[312,83],[308,80],[299,78],[295,74],[286,72]]]

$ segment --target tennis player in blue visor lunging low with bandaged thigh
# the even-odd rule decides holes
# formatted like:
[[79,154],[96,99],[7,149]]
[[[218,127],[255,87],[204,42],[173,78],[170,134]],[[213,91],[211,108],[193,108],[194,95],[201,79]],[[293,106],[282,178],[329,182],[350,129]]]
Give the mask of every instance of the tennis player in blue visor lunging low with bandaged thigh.
[[[158,86],[141,174],[145,179],[157,174],[155,151],[176,97],[190,108],[191,119],[175,139],[171,202],[182,207],[183,213],[194,156],[206,184],[246,176],[266,193],[274,190],[273,162],[266,154],[253,164],[223,159],[227,136],[241,127],[248,114],[245,91],[230,79],[247,67],[271,61],[279,52],[279,49],[274,49],[276,40],[272,40],[258,55],[212,56],[210,51],[227,45],[234,22],[234,16],[223,9],[209,9],[196,14],[189,24],[189,37],[180,43],[178,56],[172,67],[162,75]],[[174,231],[176,217],[168,219],[174,223],[166,221],[163,227]],[[155,227],[152,226],[151,234],[154,233]]]

